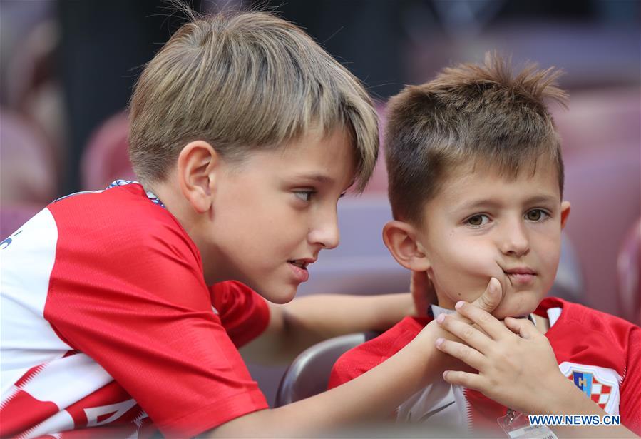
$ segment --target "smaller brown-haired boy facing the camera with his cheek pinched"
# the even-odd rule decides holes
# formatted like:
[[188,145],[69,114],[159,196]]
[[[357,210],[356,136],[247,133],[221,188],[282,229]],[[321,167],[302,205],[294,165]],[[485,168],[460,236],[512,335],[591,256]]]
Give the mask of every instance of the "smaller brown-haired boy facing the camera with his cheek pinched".
[[[399,405],[397,420],[529,437],[551,432],[519,433],[523,413],[607,413],[641,433],[641,329],[544,298],[570,213],[560,138],[545,104],[565,103],[558,74],[529,66],[513,76],[508,62],[488,55],[483,65],[445,69],[391,99],[386,164],[395,219],[384,241],[396,261],[434,285],[434,319],[460,339],[439,338],[436,348],[478,370],[446,370]],[[503,294],[492,315],[464,302],[488,279]],[[476,328],[448,316],[455,308]],[[405,318],[354,348],[334,366],[330,387],[394,355],[431,320]],[[625,427],[575,432],[630,434]]]

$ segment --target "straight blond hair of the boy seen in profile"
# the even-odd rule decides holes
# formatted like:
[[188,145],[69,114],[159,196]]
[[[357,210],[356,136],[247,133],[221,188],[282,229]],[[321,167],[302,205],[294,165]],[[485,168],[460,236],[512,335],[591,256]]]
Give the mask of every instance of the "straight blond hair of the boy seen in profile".
[[278,148],[312,128],[345,129],[362,191],[376,163],[376,111],[359,80],[294,24],[267,12],[191,17],[145,67],[130,101],[129,154],[141,182],[163,181],[180,150],[223,159]]

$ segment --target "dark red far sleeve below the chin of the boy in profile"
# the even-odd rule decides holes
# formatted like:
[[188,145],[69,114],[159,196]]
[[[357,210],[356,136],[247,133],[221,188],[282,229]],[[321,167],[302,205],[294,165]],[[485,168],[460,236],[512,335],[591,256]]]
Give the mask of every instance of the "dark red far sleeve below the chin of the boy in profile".
[[212,304],[237,348],[249,343],[270,323],[270,308],[262,296],[243,283],[220,282],[210,288]]

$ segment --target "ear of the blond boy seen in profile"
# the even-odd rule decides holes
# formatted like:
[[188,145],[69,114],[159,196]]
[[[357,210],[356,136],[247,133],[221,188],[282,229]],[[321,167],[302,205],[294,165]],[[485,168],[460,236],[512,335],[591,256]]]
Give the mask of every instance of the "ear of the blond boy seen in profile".
[[205,141],[193,141],[178,154],[178,183],[183,196],[198,213],[209,211],[220,158]]

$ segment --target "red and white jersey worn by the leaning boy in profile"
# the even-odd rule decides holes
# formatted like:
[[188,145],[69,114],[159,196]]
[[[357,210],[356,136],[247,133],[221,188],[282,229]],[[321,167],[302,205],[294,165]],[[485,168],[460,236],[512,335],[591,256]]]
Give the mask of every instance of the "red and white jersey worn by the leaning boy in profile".
[[188,437],[267,408],[237,350],[267,303],[207,287],[180,223],[124,183],[51,203],[0,243],[1,437]]

